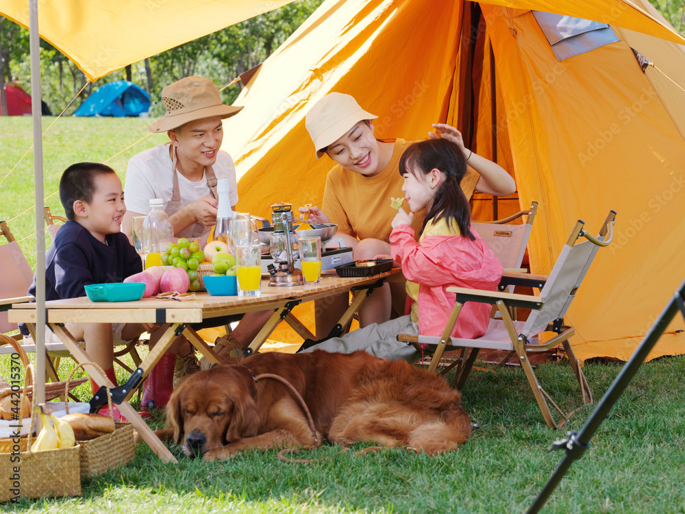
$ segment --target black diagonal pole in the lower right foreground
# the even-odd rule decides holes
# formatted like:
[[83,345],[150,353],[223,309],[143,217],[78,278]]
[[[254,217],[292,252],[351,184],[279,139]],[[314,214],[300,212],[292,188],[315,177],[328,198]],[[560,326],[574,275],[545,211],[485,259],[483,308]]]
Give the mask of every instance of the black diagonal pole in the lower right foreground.
[[554,491],[556,486],[561,479],[564,478],[564,474],[571,467],[573,461],[580,458],[585,450],[588,448],[590,439],[592,439],[597,429],[602,424],[602,421],[606,419],[614,407],[614,404],[619,400],[619,397],[628,387],[630,380],[637,373],[640,365],[645,361],[651,349],[656,345],[656,342],[664,333],[664,330],[669,326],[669,323],[673,321],[673,317],[677,314],[678,310],[685,317],[685,282],[680,284],[680,289],[673,293],[671,302],[664,308],[661,315],[658,317],[653,326],[649,329],[649,332],[645,335],[642,343],[637,347],[634,354],[625,363],[621,373],[614,379],[611,387],[606,391],[605,395],[602,397],[601,402],[597,404],[595,411],[588,417],[585,421],[583,428],[580,432],[569,432],[566,439],[556,441],[553,443],[549,450],[566,450],[566,456],[559,463],[557,468],[554,470],[553,474],[547,480],[545,487],[540,491],[538,497],[535,499],[533,504],[528,509],[527,514],[536,514],[540,512],[540,509],[545,506],[547,499]]

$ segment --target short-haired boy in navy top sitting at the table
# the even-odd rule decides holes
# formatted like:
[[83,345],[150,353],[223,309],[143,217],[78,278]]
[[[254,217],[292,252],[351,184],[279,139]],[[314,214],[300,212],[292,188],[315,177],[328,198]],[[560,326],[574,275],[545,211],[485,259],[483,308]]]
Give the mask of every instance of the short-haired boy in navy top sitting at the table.
[[[60,200],[69,220],[58,230],[45,255],[45,299],[85,296],[84,286],[122,282],[142,271],[140,256],[121,231],[126,212],[121,180],[105,164],[79,162],[64,171]],[[29,288],[36,295],[36,277]],[[156,326],[143,323],[69,323],[67,329],[105,370],[115,385],[114,341],[132,341]],[[50,330],[46,339],[58,341]],[[90,380],[93,392],[99,386]],[[107,406],[100,413],[109,415]],[[114,407],[114,418],[121,413]]]

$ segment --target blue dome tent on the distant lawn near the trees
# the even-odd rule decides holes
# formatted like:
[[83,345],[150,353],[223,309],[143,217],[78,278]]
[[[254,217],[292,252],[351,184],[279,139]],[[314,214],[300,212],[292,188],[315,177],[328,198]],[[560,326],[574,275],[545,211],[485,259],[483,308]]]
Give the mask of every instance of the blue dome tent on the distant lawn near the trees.
[[97,88],[74,116],[140,116],[150,108],[150,95],[127,80],[108,82]]

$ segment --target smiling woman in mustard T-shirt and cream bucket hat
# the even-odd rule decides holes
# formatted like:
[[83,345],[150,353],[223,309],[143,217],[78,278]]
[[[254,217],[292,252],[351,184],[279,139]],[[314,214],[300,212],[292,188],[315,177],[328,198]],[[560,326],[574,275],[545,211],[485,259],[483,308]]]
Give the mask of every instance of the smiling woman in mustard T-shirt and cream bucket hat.
[[[316,157],[329,156],[336,166],[329,171],[323,193],[322,208],[310,209],[312,221],[336,223],[338,234],[353,258],[373,259],[390,253],[390,221],[395,211],[388,198],[401,194],[401,177],[397,175],[399,158],[411,143],[403,139],[377,140],[373,119],[350,95],[329,93],[310,109],[306,127],[316,149]],[[456,143],[468,161],[462,189],[469,199],[474,190],[491,195],[513,193],[516,184],[506,170],[464,147],[462,135],[454,127],[433,125],[436,133]],[[429,133],[432,138],[438,135]],[[462,159],[464,160],[464,159]],[[301,208],[300,210],[306,210]],[[421,228],[425,212],[416,211],[414,229]],[[391,291],[392,289],[392,291]],[[403,284],[386,284],[377,289],[360,309],[360,326],[390,319],[392,308],[402,313],[406,295]],[[332,306],[316,304],[316,335],[326,336],[348,304],[348,295],[339,297]]]

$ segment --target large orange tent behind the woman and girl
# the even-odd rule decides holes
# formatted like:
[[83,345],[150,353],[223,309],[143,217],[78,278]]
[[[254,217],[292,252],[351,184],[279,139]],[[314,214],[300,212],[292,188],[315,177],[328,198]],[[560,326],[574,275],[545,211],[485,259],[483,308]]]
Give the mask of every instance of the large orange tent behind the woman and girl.
[[[647,0],[555,3],[584,19],[495,3],[507,6],[325,2],[264,62],[226,124],[238,208],[268,216],[273,201],[321,201],[332,162],[314,158],[304,117],[330,91],[377,114],[379,137],[425,138],[447,121],[512,173],[521,206],[540,202],[535,273],[549,272],[577,219],[596,230],[618,212],[614,243],[568,318],[581,359],[627,359],[685,276],[684,47],[625,22],[643,12],[668,27]],[[683,328],[674,321],[651,357],[685,352]]]

